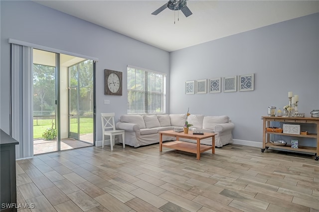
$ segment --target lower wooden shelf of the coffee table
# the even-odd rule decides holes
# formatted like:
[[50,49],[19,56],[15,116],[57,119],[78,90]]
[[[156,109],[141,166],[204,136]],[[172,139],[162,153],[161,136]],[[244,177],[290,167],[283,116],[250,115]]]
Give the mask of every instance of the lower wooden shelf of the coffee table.
[[[171,149],[176,149],[184,152],[191,152],[191,153],[197,153],[197,144],[196,143],[191,143],[191,142],[185,142],[185,141],[170,141],[167,143],[162,143],[162,146],[171,148]],[[205,152],[207,150],[212,149],[212,146],[205,145],[205,144],[200,144],[199,145],[199,152]]]

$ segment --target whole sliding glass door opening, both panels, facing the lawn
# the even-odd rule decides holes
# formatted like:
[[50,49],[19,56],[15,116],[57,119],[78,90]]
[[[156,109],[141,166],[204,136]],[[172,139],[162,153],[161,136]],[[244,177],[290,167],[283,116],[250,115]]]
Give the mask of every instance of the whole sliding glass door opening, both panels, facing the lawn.
[[33,50],[33,154],[94,144],[94,61]]

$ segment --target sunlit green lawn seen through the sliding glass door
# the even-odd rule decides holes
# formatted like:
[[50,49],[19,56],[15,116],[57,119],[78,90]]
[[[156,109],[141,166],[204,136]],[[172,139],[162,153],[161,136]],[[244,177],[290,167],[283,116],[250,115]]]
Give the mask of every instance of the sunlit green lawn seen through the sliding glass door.
[[[71,131],[77,131],[76,120],[72,120]],[[52,119],[33,119],[33,139],[42,138],[43,132],[46,128],[52,127]],[[55,124],[53,125],[53,128]],[[80,118],[80,134],[92,133],[93,132],[93,118]]]

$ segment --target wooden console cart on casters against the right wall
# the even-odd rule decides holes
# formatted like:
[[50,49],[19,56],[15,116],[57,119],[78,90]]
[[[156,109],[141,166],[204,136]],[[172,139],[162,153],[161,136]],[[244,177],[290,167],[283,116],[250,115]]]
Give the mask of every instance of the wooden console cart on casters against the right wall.
[[[315,154],[315,160],[319,160],[319,118],[311,118],[311,117],[274,117],[274,116],[262,116],[263,121],[263,148],[261,152],[264,152],[265,149],[269,147],[277,148],[277,149],[286,149],[289,151],[300,151],[300,152],[308,152]],[[283,132],[268,132],[266,131],[266,127],[270,126],[271,121],[278,121],[278,122],[285,122],[285,123],[296,123],[296,124],[303,124],[303,123],[311,123],[316,124],[317,132],[313,134],[288,134]],[[286,135],[286,136],[293,136],[293,137],[306,137],[306,138],[314,138],[315,142],[317,143],[316,147],[309,147],[309,146],[299,146],[298,148],[291,148],[291,146],[277,146],[270,143],[270,134],[275,135]]]

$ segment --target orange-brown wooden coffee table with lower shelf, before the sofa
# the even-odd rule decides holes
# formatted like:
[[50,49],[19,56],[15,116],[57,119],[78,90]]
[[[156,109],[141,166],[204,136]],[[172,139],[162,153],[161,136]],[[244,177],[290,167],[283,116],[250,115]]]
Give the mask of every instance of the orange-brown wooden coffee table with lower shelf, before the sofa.
[[[196,154],[196,159],[200,159],[200,153],[205,152],[207,150],[212,150],[212,153],[215,153],[215,135],[217,133],[208,133],[204,132],[203,135],[193,135],[192,131],[189,131],[188,134],[185,134],[184,132],[175,132],[173,130],[167,130],[167,131],[160,131],[160,152],[162,151],[162,147],[167,147],[171,149],[176,149],[184,152],[191,152]],[[176,141],[170,141],[170,142],[162,142],[163,135],[168,136],[175,136]],[[212,138],[212,146],[200,144],[200,140],[204,138]],[[179,138],[188,138],[196,140],[196,143],[191,143],[187,141],[180,141]]]

